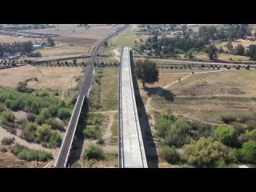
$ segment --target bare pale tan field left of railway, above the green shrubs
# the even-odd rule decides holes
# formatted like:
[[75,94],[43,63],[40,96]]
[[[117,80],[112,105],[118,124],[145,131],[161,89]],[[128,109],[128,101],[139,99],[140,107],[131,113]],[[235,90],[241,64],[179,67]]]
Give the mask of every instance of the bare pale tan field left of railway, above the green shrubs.
[[41,67],[21,66],[0,70],[0,86],[17,86],[18,82],[27,78],[38,78],[38,82],[30,81],[28,86],[35,89],[50,88],[67,90],[77,85],[75,77],[82,75],[79,67]]

